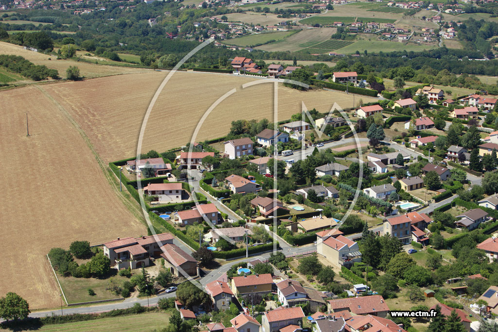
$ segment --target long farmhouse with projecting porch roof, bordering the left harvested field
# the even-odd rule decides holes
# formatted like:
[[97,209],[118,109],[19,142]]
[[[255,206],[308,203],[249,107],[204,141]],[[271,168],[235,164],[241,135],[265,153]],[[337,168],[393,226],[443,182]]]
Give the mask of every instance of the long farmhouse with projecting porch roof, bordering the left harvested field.
[[104,255],[111,260],[111,267],[136,269],[150,264],[150,257],[158,258],[161,247],[173,243],[173,235],[161,233],[138,238],[126,237],[104,243]]

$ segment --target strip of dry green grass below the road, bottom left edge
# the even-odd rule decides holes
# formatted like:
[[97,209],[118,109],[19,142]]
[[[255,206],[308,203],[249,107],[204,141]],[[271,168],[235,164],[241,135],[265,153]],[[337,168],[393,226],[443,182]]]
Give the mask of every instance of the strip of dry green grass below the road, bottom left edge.
[[86,332],[86,331],[123,331],[138,332],[160,330],[169,324],[169,313],[144,313],[139,315],[102,318],[92,321],[45,325],[40,332]]

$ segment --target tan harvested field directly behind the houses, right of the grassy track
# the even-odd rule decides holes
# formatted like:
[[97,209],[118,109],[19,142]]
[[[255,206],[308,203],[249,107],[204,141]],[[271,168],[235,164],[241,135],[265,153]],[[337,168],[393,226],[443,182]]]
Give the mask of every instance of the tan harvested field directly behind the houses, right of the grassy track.
[[[136,154],[143,116],[157,87],[167,72],[105,77],[83,82],[65,82],[44,86],[55,100],[74,116],[85,130],[99,155],[114,161]],[[248,82],[268,83],[242,90]],[[190,141],[205,111],[220,97],[236,88],[207,117],[196,140],[226,135],[237,119],[273,119],[273,85],[265,79],[227,74],[177,72],[165,86],[145,131],[142,151],[162,152]],[[356,96],[355,103],[373,98]],[[334,102],[342,108],[353,107],[353,96],[343,92],[300,92],[278,88],[278,119],[289,119],[301,111],[301,101],[309,109],[330,111]],[[356,105],[355,105],[356,106]]]

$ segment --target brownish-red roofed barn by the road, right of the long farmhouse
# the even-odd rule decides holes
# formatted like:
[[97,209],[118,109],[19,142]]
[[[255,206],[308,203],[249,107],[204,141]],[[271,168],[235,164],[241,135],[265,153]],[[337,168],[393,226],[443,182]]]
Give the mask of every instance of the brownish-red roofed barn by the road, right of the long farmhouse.
[[[161,257],[164,258],[164,267],[177,277],[198,275],[197,260],[173,243],[162,246]],[[186,274],[186,275],[185,275]]]

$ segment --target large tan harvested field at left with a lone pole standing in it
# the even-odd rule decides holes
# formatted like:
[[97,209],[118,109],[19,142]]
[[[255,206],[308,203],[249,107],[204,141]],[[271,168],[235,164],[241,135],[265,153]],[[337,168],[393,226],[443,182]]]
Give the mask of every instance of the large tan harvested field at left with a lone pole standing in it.
[[16,292],[35,309],[60,305],[46,258],[50,248],[146,233],[80,132],[40,89],[0,92],[0,155],[10,166],[0,175],[5,197],[0,209],[0,294]]

